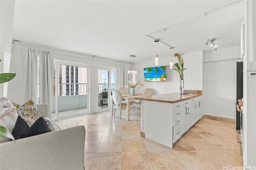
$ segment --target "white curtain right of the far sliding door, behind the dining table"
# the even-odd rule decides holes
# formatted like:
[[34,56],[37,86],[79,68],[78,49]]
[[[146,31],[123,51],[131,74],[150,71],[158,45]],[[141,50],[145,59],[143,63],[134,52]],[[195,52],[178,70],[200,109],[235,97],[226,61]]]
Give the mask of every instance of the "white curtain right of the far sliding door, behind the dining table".
[[116,63],[116,89],[128,85],[130,75],[128,74],[129,64]]

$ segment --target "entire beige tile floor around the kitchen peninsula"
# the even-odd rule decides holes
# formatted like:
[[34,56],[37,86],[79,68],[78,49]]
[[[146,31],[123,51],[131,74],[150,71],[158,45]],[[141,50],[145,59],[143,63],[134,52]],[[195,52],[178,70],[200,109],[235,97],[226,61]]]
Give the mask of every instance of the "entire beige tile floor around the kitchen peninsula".
[[[86,128],[84,165],[87,170],[210,170],[241,167],[241,146],[235,124],[202,119],[173,149],[140,137],[140,110],[126,121],[110,111],[56,121],[61,128]],[[226,168],[227,169],[227,168]]]

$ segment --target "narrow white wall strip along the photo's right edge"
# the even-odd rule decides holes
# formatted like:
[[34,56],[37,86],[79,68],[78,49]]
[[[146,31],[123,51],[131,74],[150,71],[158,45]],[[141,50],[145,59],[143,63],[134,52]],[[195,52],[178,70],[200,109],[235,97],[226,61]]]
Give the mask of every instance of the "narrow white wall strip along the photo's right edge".
[[[256,61],[256,1],[246,0],[244,70],[247,62]],[[246,73],[245,73],[246,74]],[[256,167],[256,77],[244,74],[243,163],[246,169]]]

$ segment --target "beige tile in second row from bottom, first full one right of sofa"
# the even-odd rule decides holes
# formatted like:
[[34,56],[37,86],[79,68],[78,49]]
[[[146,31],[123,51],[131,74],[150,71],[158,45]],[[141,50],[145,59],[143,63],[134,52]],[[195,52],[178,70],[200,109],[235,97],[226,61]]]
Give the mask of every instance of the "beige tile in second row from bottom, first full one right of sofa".
[[122,152],[122,141],[101,140],[96,152]]

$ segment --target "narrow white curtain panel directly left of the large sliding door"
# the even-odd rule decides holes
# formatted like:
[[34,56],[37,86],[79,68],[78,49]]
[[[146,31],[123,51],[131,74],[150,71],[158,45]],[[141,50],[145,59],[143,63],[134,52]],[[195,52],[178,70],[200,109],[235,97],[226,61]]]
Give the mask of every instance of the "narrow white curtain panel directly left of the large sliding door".
[[49,118],[52,118],[53,57],[50,50],[41,50],[39,56],[39,103],[48,104]]

